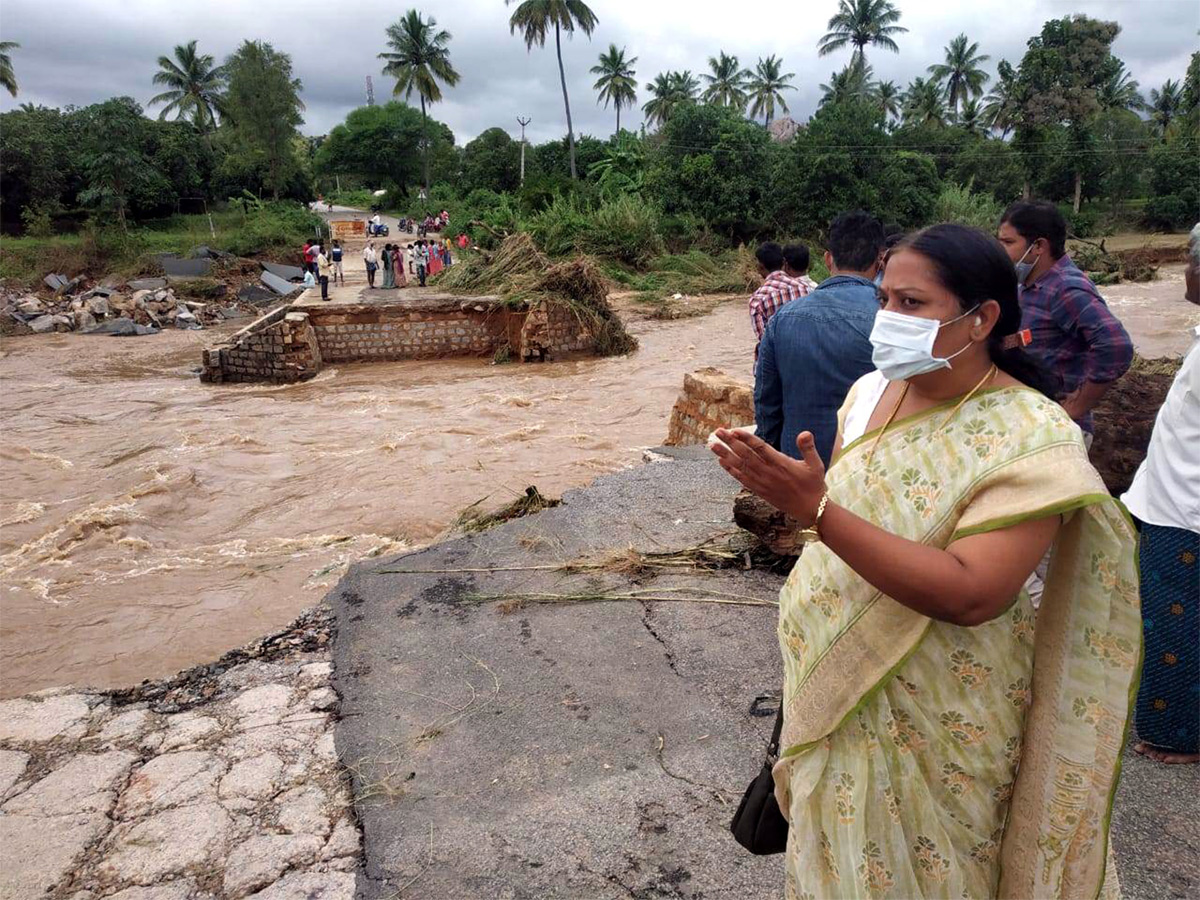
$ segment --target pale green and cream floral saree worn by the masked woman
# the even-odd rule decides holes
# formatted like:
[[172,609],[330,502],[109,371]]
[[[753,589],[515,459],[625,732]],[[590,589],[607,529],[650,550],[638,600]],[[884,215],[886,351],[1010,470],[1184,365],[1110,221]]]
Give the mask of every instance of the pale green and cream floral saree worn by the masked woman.
[[874,458],[876,432],[846,446],[830,499],[937,547],[1063,515],[1040,611],[1021,592],[983,625],[935,622],[804,552],[779,620],[788,898],[1093,900],[1104,884],[1141,652],[1133,528],[1056,403],[1003,388],[953,408],[895,422]]

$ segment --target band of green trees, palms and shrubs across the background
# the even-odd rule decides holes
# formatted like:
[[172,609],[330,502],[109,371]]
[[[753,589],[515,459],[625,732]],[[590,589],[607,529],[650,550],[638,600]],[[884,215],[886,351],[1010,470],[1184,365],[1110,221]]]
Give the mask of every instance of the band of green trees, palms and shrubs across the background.
[[[641,98],[650,132],[638,133],[620,127],[638,103],[636,48],[610,44],[592,73],[617,128],[599,139],[575,133],[560,53],[563,32],[590,36],[595,13],[582,0],[508,2],[530,50],[553,36],[566,113],[565,136],[526,145],[523,167],[508,130],[460,146],[430,115],[460,77],[450,34],[415,10],[386,28],[379,55],[394,95],[419,107],[361,107],[319,138],[298,131],[302,85],[287,54],[246,41],[218,65],[192,41],[148,67],[163,89],[158,120],[127,97],[0,115],[0,214],[25,235],[6,240],[0,271],[139,266],[151,250],[200,242],[272,252],[311,233],[298,202],[317,193],[410,216],[448,209],[454,232],[485,250],[526,232],[551,259],[584,254],[634,292],[684,294],[745,289],[739,247],[779,235],[820,246],[829,221],[857,208],[907,229],[990,229],[1007,204],[1037,197],[1060,204],[1079,238],[1184,229],[1200,209],[1200,53],[1147,102],[1112,54],[1116,23],[1051,19],[994,73],[985,43],[960,34],[914,61],[920,74],[901,89],[868,60],[901,50],[899,6],[840,0],[817,50],[848,61],[786,140],[766,127],[793,90],[784,60],[751,71],[715,49],[698,77],[654,76]],[[11,49],[0,43],[0,85],[14,92]],[[216,238],[197,234],[206,218],[181,215],[206,210]]]

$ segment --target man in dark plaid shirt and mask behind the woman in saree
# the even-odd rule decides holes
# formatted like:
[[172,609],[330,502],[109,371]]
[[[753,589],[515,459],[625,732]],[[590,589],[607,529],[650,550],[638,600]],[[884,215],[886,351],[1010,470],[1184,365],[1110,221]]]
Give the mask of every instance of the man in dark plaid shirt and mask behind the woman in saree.
[[1028,352],[1062,383],[1058,402],[1092,436],[1092,408],[1129,368],[1133,341],[1067,254],[1067,221],[1045,202],[1004,210],[996,238],[1016,268]]

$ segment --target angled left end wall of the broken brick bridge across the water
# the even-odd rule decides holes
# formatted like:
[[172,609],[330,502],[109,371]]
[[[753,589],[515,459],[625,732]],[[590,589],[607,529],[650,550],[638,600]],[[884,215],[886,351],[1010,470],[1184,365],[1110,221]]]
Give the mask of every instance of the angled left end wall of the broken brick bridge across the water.
[[288,384],[320,371],[322,354],[308,314],[286,304],[204,350],[200,380]]

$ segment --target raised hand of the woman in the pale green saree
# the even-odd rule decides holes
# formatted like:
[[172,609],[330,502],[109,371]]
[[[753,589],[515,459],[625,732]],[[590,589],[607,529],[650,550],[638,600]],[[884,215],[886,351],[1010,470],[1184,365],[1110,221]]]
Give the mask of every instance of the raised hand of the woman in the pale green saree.
[[812,432],[803,431],[796,438],[800,460],[793,460],[743,431],[718,428],[716,437],[722,443],[714,442],[712,450],[721,468],[775,509],[804,526],[812,523],[826,492],[824,463]]

